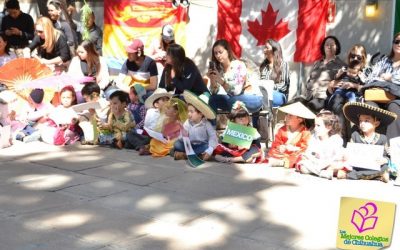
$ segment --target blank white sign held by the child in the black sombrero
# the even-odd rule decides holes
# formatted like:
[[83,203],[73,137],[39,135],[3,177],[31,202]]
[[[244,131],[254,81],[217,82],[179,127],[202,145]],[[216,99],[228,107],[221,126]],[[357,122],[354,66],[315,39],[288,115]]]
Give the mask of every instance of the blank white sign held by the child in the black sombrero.
[[346,157],[352,167],[381,170],[378,160],[383,157],[383,145],[347,143]]

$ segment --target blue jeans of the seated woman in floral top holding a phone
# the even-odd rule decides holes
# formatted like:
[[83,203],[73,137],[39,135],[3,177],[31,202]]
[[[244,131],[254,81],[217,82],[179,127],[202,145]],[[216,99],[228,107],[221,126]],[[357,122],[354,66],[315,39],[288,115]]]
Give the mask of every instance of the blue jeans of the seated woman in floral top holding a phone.
[[221,109],[224,111],[231,111],[232,105],[236,101],[241,101],[246,105],[247,110],[250,113],[257,112],[262,107],[262,96],[256,95],[211,95],[208,104],[212,109],[217,111],[217,109]]

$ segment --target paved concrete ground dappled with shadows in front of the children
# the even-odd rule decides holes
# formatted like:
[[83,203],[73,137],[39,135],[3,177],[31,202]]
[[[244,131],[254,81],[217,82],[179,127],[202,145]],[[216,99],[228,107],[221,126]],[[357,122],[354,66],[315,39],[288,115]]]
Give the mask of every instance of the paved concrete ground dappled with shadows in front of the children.
[[[340,197],[399,205],[399,194],[263,165],[193,169],[134,151],[21,143],[0,150],[0,249],[335,249]],[[389,249],[400,249],[399,220]]]

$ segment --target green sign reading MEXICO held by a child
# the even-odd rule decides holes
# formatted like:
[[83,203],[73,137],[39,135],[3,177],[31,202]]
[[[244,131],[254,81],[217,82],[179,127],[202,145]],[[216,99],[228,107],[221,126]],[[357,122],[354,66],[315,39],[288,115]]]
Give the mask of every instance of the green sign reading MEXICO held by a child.
[[243,148],[250,148],[253,140],[260,138],[257,129],[228,122],[222,141]]

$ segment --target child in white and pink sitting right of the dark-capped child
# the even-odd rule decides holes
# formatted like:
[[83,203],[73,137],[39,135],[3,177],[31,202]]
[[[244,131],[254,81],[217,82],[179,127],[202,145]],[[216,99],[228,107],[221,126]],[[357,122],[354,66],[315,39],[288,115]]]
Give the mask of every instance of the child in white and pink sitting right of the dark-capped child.
[[77,104],[76,92],[72,86],[60,91],[61,105],[49,114],[46,126],[41,129],[42,140],[54,145],[68,145],[80,139],[82,134],[78,126],[78,114],[71,108]]

